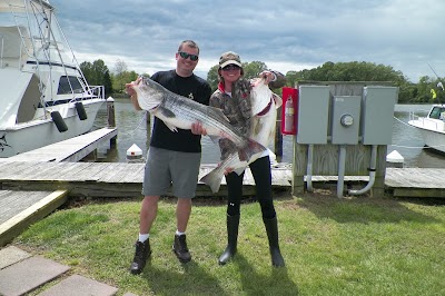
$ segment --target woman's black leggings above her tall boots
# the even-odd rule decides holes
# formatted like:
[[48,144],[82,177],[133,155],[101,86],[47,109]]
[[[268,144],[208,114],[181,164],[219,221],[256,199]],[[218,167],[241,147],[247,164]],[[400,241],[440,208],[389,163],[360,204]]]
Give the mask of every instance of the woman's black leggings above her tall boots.
[[[258,203],[261,207],[263,218],[275,218],[275,207],[271,197],[271,174],[269,157],[261,157],[249,165],[255,179],[255,189]],[[227,215],[236,216],[240,214],[243,198],[244,172],[238,176],[235,171],[226,176],[227,182]]]

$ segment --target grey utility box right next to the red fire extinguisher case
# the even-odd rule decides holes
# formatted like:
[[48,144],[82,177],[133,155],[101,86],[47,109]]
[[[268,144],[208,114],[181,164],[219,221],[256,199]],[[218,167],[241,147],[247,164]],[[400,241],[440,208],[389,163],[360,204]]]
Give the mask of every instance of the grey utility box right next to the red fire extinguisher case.
[[327,144],[329,120],[329,87],[298,88],[298,144]]

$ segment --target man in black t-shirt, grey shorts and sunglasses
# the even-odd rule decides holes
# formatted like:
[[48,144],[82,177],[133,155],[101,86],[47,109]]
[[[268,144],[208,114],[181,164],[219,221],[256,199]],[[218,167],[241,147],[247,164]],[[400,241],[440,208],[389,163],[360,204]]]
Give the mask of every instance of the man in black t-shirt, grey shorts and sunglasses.
[[[199,60],[199,47],[191,40],[180,43],[176,53],[176,69],[155,73],[151,79],[168,90],[208,105],[211,89],[206,80],[194,73]],[[127,92],[136,96],[128,83]],[[139,238],[131,263],[131,274],[140,274],[151,254],[149,233],[158,211],[158,201],[172,185],[178,198],[176,207],[177,230],[172,250],[179,262],[188,263],[191,255],[187,247],[186,229],[191,213],[201,159],[200,135],[206,135],[199,122],[191,130],[171,131],[162,120],[155,117],[150,148],[142,185],[144,200],[140,209]]]

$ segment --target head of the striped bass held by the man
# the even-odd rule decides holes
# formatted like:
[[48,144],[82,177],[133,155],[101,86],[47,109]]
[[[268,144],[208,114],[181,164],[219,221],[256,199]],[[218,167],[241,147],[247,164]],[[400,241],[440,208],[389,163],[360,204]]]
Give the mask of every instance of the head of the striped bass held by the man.
[[132,89],[137,93],[139,106],[147,111],[157,108],[166,95],[166,89],[161,85],[147,77],[139,77],[132,83]]

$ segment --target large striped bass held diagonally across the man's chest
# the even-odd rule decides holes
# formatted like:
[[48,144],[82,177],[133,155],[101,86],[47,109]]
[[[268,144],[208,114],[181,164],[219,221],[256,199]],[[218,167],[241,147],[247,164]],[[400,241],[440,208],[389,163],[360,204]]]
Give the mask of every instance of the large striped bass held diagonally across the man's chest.
[[134,101],[135,107],[158,117],[171,131],[177,131],[177,128],[191,129],[191,125],[199,121],[208,136],[231,140],[238,148],[235,152],[239,159],[248,160],[251,156],[266,150],[263,145],[241,135],[218,108],[171,92],[146,77],[139,77],[131,83],[131,88],[137,96],[137,103]]

